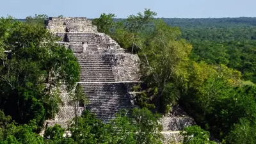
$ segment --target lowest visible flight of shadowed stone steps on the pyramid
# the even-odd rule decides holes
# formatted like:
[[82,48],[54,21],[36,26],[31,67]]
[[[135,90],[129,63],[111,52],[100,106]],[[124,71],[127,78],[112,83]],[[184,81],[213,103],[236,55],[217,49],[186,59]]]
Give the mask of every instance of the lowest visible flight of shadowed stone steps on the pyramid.
[[130,95],[123,83],[81,83],[89,99],[86,109],[95,113],[102,122],[115,118],[121,109],[132,109]]

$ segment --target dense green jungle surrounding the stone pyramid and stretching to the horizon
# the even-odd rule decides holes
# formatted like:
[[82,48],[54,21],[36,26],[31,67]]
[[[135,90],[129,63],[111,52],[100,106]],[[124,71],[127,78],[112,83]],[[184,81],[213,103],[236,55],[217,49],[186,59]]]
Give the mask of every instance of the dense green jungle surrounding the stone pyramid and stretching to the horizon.
[[76,86],[79,63],[45,29],[47,15],[0,19],[0,143],[163,143],[158,120],[173,106],[196,122],[180,132],[183,143],[256,143],[256,18],[157,18],[150,9],[115,17],[92,22],[140,57],[143,83],[132,88],[140,108],[109,124],[84,111],[68,129],[47,127],[44,136],[61,83],[76,89],[74,101],[86,98]]

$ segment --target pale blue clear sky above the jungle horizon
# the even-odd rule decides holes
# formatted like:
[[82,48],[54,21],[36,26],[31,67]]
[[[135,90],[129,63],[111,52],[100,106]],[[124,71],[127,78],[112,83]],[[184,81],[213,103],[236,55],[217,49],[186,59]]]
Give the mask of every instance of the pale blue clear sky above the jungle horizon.
[[143,12],[165,18],[256,17],[256,0],[0,0],[0,17],[24,19],[29,15],[97,18],[114,13],[116,18]]

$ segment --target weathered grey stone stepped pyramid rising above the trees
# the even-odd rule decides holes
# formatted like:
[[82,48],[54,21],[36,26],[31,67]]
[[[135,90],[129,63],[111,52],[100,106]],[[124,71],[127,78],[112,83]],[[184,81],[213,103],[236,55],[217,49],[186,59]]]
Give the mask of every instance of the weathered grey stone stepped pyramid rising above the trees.
[[[115,118],[120,109],[133,108],[129,89],[139,83],[140,60],[136,54],[124,51],[114,40],[86,18],[56,18],[47,21],[47,29],[61,37],[59,42],[74,51],[81,67],[81,81],[89,104],[86,109],[95,113],[103,122]],[[54,124],[65,125],[74,118],[74,106],[69,104],[68,94],[62,93],[65,103],[54,119]],[[79,113],[84,110],[80,106]]]

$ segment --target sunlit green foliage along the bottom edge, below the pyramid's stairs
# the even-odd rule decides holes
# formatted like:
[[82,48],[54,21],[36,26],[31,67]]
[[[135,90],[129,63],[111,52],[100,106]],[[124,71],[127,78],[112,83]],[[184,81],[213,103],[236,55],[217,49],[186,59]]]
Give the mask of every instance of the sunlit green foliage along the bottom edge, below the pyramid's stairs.
[[33,132],[35,125],[16,125],[10,116],[0,111],[0,143],[156,143],[163,140],[159,115],[147,109],[133,109],[131,117],[127,111],[117,113],[109,124],[102,123],[89,111],[74,118],[68,127],[72,134],[63,137],[65,129],[60,125],[47,127],[44,138]]

